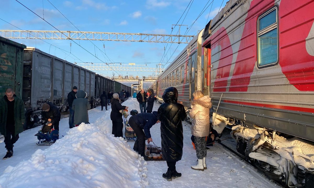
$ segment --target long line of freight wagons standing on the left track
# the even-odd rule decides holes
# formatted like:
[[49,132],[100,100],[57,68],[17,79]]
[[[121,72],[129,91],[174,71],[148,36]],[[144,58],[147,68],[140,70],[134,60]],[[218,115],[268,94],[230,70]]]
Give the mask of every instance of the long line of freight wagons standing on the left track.
[[131,87],[47,54],[33,47],[0,37],[0,94],[13,88],[25,106],[24,128],[41,122],[41,107],[52,102],[68,110],[67,96],[73,86],[84,90],[91,107],[100,102],[103,91],[131,91]]

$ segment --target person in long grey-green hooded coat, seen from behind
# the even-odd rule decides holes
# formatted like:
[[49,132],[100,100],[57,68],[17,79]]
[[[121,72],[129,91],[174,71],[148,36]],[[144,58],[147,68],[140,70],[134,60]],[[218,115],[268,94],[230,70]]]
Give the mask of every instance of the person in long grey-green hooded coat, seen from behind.
[[81,123],[89,123],[88,110],[90,110],[91,106],[86,97],[87,93],[83,90],[79,90],[76,93],[76,99],[74,99],[72,104],[75,126],[78,126]]

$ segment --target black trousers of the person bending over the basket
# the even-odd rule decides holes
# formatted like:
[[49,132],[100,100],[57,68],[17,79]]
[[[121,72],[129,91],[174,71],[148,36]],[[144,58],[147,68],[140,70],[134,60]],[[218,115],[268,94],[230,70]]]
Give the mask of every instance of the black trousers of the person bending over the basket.
[[145,133],[143,129],[135,123],[133,116],[129,119],[129,125],[133,128],[137,137],[133,149],[138,151],[138,154],[143,155],[145,150]]

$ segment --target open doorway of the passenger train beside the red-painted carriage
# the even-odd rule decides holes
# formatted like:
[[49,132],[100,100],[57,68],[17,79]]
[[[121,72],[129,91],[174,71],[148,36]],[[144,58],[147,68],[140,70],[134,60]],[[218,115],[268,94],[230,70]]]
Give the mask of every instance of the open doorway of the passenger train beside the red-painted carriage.
[[204,95],[210,97],[210,68],[211,68],[211,20],[208,22],[204,29],[202,41],[202,77],[203,77],[203,92]]

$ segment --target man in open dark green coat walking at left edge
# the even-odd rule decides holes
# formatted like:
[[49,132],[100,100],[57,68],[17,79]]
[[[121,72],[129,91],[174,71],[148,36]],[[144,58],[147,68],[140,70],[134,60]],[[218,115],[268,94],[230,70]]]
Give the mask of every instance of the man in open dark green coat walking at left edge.
[[7,149],[3,159],[13,156],[13,144],[19,139],[19,133],[23,132],[25,122],[24,102],[14,94],[13,89],[8,88],[0,99],[0,133],[4,136]]

